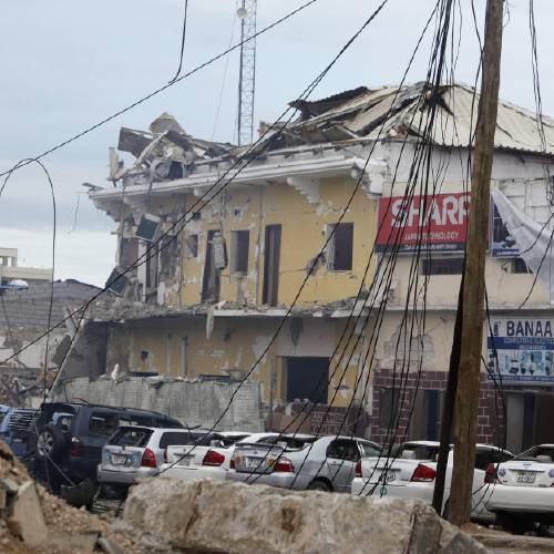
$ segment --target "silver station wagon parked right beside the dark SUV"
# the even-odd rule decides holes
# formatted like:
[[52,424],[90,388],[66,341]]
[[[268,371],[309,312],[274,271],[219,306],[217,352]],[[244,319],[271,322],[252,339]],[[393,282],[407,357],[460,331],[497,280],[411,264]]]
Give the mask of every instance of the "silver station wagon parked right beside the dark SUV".
[[157,475],[167,462],[167,450],[207,437],[199,429],[122,425],[107,440],[98,466],[98,481],[125,493],[138,479]]

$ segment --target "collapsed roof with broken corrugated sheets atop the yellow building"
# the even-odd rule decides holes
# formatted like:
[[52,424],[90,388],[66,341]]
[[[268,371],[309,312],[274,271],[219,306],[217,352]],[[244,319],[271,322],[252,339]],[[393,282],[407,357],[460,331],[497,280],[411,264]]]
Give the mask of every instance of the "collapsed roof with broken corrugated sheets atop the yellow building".
[[[432,106],[437,106],[437,112],[430,124],[431,140],[441,146],[466,147],[472,143],[479,94],[472,86],[454,83],[433,92],[424,82],[400,88],[359,86],[316,101],[296,100],[289,104],[299,112],[296,121],[274,124],[252,155],[345,141],[417,138],[429,124]],[[544,143],[540,126],[534,113],[500,101],[495,147],[554,155],[554,120],[542,119]],[[193,173],[196,165],[235,160],[246,148],[195,138],[172,115],[163,113],[147,132],[121,129],[117,150],[133,154],[136,161],[124,168],[112,148],[110,179],[133,177],[134,184],[138,184],[182,178]]]

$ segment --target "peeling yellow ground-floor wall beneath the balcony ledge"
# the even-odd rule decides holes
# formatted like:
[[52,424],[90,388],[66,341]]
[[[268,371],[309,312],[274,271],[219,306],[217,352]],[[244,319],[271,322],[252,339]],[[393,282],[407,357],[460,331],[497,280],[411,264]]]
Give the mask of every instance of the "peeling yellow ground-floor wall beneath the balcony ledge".
[[[112,328],[109,342],[109,367],[120,363],[124,370],[155,371],[171,377],[194,378],[199,375],[228,375],[225,370],[240,370],[244,376],[256,363],[277,330],[280,318],[219,317],[209,339],[206,337],[205,316],[156,318],[117,325]],[[261,383],[261,397],[269,402],[271,367],[275,371],[274,402],[286,399],[286,363],[288,356],[331,357],[346,325],[345,319],[320,320],[305,318],[304,330],[296,343],[290,340],[290,326],[281,329],[267,355],[253,370],[252,378]],[[186,372],[183,373],[182,342],[186,339]],[[353,339],[355,340],[355,339]],[[352,340],[352,343],[353,343]],[[360,349],[357,349],[358,352]],[[147,352],[142,359],[141,353]],[[342,348],[339,350],[339,353]],[[359,357],[350,353],[340,360],[328,390],[330,402],[340,383],[334,406],[347,406],[351,399],[358,371]],[[355,353],[356,353],[355,352]],[[332,373],[339,356],[334,358]],[[343,379],[340,380],[342,372]],[[316,383],[314,383],[314,387]],[[361,390],[361,386],[360,386]]]

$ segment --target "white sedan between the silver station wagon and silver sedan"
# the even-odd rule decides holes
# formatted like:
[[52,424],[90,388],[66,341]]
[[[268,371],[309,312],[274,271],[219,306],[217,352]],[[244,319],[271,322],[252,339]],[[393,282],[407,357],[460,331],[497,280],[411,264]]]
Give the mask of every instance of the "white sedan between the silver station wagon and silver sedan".
[[278,433],[212,433],[203,444],[167,448],[164,474],[179,479],[225,479],[237,444],[275,440]]

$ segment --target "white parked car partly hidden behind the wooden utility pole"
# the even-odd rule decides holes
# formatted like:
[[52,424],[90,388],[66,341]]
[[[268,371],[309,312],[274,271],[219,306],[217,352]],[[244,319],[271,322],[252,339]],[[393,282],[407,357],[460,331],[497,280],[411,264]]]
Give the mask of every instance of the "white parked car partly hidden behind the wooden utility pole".
[[[400,444],[390,456],[363,458],[356,466],[351,492],[355,495],[387,495],[394,499],[419,499],[429,504],[433,500],[437,459],[440,443],[435,441],[409,441]],[[513,458],[511,452],[489,444],[476,444],[473,472],[472,519],[493,522],[494,514],[485,507],[491,493],[486,468]],[[452,479],[453,452],[447,462],[443,513],[448,511]]]

